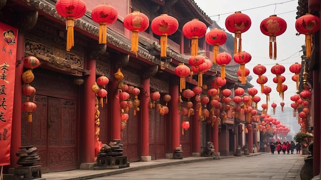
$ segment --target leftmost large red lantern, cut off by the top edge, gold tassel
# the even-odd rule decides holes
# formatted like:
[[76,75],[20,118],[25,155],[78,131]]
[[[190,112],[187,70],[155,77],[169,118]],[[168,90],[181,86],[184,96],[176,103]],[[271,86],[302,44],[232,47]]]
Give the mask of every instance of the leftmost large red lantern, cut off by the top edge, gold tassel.
[[58,0],[56,3],[57,13],[66,17],[67,26],[67,51],[74,46],[73,27],[74,20],[86,13],[86,4],[82,0]]

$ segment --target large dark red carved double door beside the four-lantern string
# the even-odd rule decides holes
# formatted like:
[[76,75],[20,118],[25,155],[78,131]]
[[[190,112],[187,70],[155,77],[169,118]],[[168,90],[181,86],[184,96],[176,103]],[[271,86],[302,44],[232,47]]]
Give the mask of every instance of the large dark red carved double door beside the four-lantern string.
[[42,95],[35,101],[33,122],[22,116],[22,145],[37,147],[43,172],[77,169],[76,101]]

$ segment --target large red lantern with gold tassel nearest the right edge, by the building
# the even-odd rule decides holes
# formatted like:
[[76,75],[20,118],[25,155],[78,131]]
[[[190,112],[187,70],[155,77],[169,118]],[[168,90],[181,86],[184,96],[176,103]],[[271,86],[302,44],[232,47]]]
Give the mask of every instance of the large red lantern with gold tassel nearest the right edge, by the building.
[[307,58],[311,57],[312,34],[320,29],[320,18],[316,15],[306,14],[296,19],[295,29],[306,35]]

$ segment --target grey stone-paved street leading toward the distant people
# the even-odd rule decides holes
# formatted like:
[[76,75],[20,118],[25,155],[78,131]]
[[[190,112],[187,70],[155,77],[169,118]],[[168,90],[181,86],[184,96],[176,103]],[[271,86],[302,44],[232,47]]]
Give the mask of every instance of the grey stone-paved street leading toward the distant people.
[[164,166],[94,179],[296,179],[305,155],[264,153]]

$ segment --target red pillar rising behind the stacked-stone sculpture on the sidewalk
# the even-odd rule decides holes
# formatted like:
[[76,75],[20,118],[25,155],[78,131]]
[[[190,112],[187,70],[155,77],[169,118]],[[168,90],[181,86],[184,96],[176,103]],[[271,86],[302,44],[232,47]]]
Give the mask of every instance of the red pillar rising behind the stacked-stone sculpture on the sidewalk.
[[[112,89],[118,89],[117,79],[113,76]],[[115,91],[115,90],[114,90]],[[121,140],[121,102],[119,101],[119,92],[114,93],[112,96],[112,140]]]

